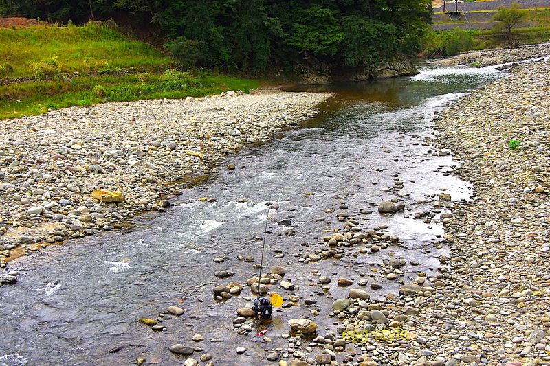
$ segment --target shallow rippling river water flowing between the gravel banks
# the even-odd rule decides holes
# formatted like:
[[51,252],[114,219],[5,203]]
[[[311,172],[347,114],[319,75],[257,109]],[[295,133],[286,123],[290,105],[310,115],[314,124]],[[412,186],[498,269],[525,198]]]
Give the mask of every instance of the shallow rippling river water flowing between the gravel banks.
[[[259,358],[264,348],[287,345],[280,337],[289,330],[287,319],[310,316],[309,310],[317,308],[321,314],[312,319],[319,332],[333,330],[327,318],[332,298],[347,295],[336,278],[358,282],[365,276],[369,283],[382,284],[382,290],[367,288],[373,297],[395,292],[397,282],[371,271],[390,252],[406,259],[401,268],[405,281],[417,271],[434,273],[437,258],[447,253],[434,244],[443,229],[413,219],[414,212],[430,211],[417,200],[439,195],[441,187],[453,200],[467,199],[472,192],[448,174],[451,157],[432,154],[435,150],[425,143],[426,137],[434,137],[431,119],[465,93],[505,74],[495,67],[428,65],[410,78],[302,88],[335,96],[316,119],[228,157],[225,163],[236,170],[221,169],[201,185],[184,187],[166,213],[142,216],[126,231],[74,240],[12,262],[21,275],[16,285],[0,288],[0,365],[131,365],[136,357],[181,365],[182,359],[167,347],[193,343],[195,333],[205,337],[195,345],[212,354],[214,365],[261,365],[266,363]],[[392,218],[381,216],[377,205],[396,196],[389,187],[397,179],[404,183],[401,192],[410,194],[403,198],[407,209]],[[217,201],[197,201],[203,196]],[[272,339],[262,343],[254,332],[239,336],[233,331],[235,310],[245,306],[248,288],[224,304],[212,299],[212,288],[244,283],[257,273],[253,263],[237,256],[253,255],[259,262],[268,204],[278,209],[270,211],[268,221],[267,266],[284,266],[285,277],[299,286],[295,292],[318,302],[274,313],[272,323],[259,325],[267,327]],[[327,230],[341,227],[335,216],[339,211],[357,214],[364,228],[388,225],[386,231],[404,245],[357,258],[300,262],[322,243]],[[291,223],[279,225],[281,220]],[[219,257],[225,262],[214,263]],[[217,279],[214,272],[221,269],[236,275]],[[328,293],[314,285],[312,270],[334,279]],[[137,321],[174,304],[186,312],[164,321],[166,332],[152,332]],[[223,342],[211,343],[215,338]],[[237,356],[238,346],[247,352]],[[200,354],[195,352],[195,358]]]

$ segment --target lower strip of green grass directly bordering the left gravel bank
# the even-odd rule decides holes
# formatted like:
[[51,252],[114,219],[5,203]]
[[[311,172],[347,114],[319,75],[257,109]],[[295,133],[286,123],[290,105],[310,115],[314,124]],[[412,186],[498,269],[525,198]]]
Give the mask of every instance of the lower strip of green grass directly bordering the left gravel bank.
[[[39,115],[48,109],[155,98],[185,98],[248,90],[259,81],[208,73],[135,73],[33,80],[0,87],[0,119]],[[19,100],[19,102],[18,102]]]

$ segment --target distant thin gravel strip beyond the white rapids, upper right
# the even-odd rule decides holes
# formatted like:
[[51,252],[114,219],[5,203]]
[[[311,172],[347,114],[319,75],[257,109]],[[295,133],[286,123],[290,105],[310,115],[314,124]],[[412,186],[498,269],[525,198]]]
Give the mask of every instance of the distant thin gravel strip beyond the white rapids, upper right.
[[476,65],[485,67],[504,63],[520,62],[531,58],[550,55],[550,43],[528,45],[514,48],[489,49],[486,51],[466,52],[451,58],[435,62],[441,66]]

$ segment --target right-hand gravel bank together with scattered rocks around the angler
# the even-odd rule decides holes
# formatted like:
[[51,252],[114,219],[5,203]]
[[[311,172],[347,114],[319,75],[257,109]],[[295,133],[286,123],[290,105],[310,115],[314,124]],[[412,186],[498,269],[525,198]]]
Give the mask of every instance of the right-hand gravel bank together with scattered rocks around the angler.
[[[276,291],[285,299],[283,312],[301,309],[293,312],[301,317],[287,319],[287,332],[281,335],[286,347],[271,346],[269,338],[260,340],[264,352],[257,364],[550,365],[550,62],[521,65],[512,72],[435,119],[439,136],[432,141],[434,153],[451,150],[453,159],[461,162],[454,174],[474,184],[472,201],[455,201],[443,190],[431,200],[428,216],[415,214],[445,227],[444,236],[433,244],[448,247],[450,255],[439,257],[437,272],[413,269],[411,275],[406,266],[418,263],[393,257],[392,248],[402,242],[387,225],[362,226],[358,216],[370,211],[351,214],[360,210],[347,205],[337,212],[327,210],[338,225],[299,262],[343,261],[387,250],[380,268],[371,269],[379,278],[399,282],[399,293],[371,297],[369,288],[382,288],[369,278],[372,275],[354,280],[312,269],[309,286],[300,286],[284,267],[266,271],[260,283],[251,277],[246,284],[223,284],[232,273],[218,272],[216,301],[241,293],[248,301],[235,309],[234,332],[243,342],[234,354],[248,352],[245,337],[258,324],[252,319],[250,293]],[[399,181],[394,188],[398,196]],[[402,209],[398,197],[378,207],[388,222]],[[349,288],[348,297],[333,299],[331,308],[307,297],[307,287],[324,295],[335,283]],[[162,330],[164,325],[157,321],[170,319],[170,314],[168,308],[157,319],[142,322],[153,321]],[[195,334],[196,339],[201,340],[201,334]],[[185,365],[199,363],[192,356],[210,361],[210,354],[200,355],[203,348],[197,345],[178,343],[168,350],[188,357]]]

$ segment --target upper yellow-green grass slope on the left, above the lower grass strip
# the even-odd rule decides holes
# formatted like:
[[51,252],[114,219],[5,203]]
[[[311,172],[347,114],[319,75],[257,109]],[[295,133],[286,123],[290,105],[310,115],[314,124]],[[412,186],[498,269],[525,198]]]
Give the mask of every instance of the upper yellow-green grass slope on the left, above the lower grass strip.
[[[52,66],[50,74],[56,74],[117,69],[156,71],[171,63],[168,56],[151,45],[100,25],[0,29],[0,77],[4,78],[36,76],[37,71],[48,66]],[[11,70],[6,72],[5,65]]]

